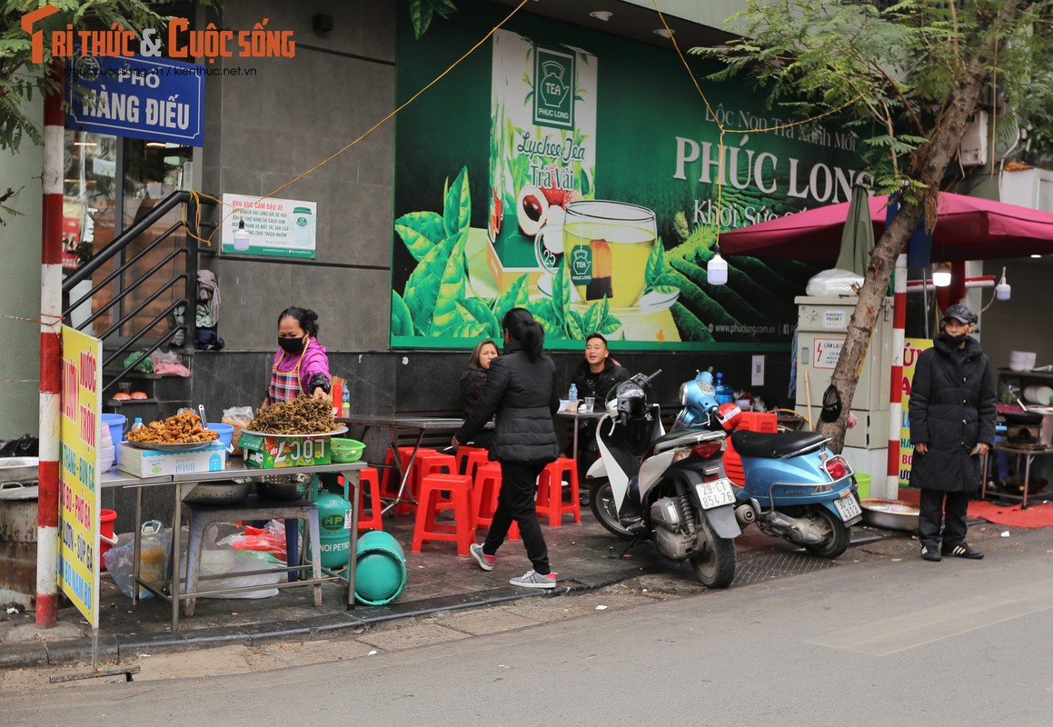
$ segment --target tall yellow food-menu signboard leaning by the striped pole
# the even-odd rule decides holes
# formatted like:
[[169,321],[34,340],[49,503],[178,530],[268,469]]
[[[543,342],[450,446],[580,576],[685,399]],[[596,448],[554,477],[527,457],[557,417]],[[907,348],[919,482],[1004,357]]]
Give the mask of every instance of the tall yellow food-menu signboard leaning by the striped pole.
[[59,585],[99,627],[99,449],[102,341],[62,327]]

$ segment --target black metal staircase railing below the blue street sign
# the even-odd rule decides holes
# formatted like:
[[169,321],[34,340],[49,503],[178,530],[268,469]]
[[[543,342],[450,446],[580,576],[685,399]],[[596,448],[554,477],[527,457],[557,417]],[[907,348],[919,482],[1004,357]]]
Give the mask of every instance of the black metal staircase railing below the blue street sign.
[[[138,316],[143,310],[146,309],[152,302],[161,297],[165,292],[175,288],[180,281],[183,283],[183,297],[171,302],[163,312],[157,315],[152,321],[146,323],[141,330],[134,332],[132,335],[123,337],[123,342],[108,356],[104,356],[102,361],[102,367],[105,369],[108,365],[116,360],[121,360],[121,356],[124,355],[128,349],[135,347],[140,340],[145,338],[152,333],[155,333],[158,326],[162,321],[166,321],[170,314],[173,314],[180,306],[183,307],[183,322],[177,325],[175,328],[165,329],[161,335],[148,338],[152,342],[148,345],[145,351],[142,352],[140,356],[135,358],[128,366],[124,367],[124,370],[120,374],[111,378],[111,380],[103,385],[103,390],[106,390],[117,381],[125,376],[128,372],[134,370],[139,364],[145,359],[148,359],[151,354],[160,349],[162,346],[170,343],[175,336],[182,331],[184,333],[184,340],[193,345],[194,338],[197,333],[197,273],[198,273],[198,243],[197,239],[199,236],[199,230],[197,228],[198,219],[198,204],[199,198],[196,195],[191,194],[186,191],[173,192],[171,195],[161,200],[153,210],[143,215],[143,217],[133,224],[131,228],[119,234],[114,240],[107,244],[105,248],[100,250],[88,262],[86,262],[82,268],[77,270],[76,273],[67,277],[62,282],[62,293],[65,298],[71,294],[71,291],[78,283],[84,280],[91,280],[92,274],[97,270],[106,264],[110,260],[119,256],[133,241],[140,238],[140,236],[150,230],[154,224],[159,222],[164,216],[172,210],[175,210],[181,204],[186,205],[186,213],[182,216],[182,219],[178,220],[172,224],[167,230],[160,234],[157,239],[147,243],[136,253],[133,257],[125,260],[124,262],[119,262],[113,272],[106,275],[104,278],[95,282],[92,289],[78,298],[75,301],[71,301],[65,309],[62,311],[62,317],[68,320],[69,315],[73,311],[77,310],[80,306],[92,300],[99,291],[103,290],[107,286],[114,282],[118,277],[123,275],[125,272],[131,270],[136,263],[147,259],[147,256],[155,250],[165,242],[173,234],[175,234],[180,229],[185,228],[186,234],[183,236],[184,242],[175,247],[170,251],[160,261],[154,264],[145,274],[138,277],[136,280],[132,281],[126,287],[121,287],[120,290],[116,291],[114,296],[103,306],[100,306],[98,310],[94,311],[87,318],[85,318],[79,326],[79,329],[84,329],[90,326],[93,321],[97,320],[100,316],[105,315],[112,309],[120,306],[131,293],[139,290],[148,291],[150,288],[145,287],[147,284],[156,284],[154,292],[151,293],[144,300],[142,300],[138,306],[136,306],[132,311],[123,313],[120,318],[114,321],[110,328],[103,331],[98,337],[105,340],[106,338],[119,335],[122,329],[132,321],[136,316]],[[165,280],[161,280],[161,272],[170,263],[183,256],[183,266],[175,275],[172,275]],[[118,309],[120,311],[121,309]]]

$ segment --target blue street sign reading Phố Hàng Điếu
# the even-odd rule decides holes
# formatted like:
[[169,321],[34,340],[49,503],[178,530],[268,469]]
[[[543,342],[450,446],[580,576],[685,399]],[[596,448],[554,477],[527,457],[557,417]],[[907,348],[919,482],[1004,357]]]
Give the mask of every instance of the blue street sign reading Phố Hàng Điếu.
[[204,68],[165,58],[95,56],[66,73],[66,126],[98,134],[204,142]]

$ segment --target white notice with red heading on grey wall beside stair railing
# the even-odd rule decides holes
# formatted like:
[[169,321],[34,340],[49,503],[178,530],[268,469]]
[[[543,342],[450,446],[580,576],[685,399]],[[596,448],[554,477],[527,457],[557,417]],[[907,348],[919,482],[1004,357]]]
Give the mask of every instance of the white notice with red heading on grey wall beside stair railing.
[[[315,256],[318,203],[224,194],[221,250],[243,255]],[[235,236],[244,221],[247,237]]]

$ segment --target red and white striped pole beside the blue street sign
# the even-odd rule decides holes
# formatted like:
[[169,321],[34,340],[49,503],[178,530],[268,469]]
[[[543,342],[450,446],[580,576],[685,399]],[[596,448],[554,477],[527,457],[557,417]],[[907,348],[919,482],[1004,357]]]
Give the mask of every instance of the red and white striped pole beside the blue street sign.
[[[58,75],[56,74],[58,77]],[[61,81],[61,77],[58,77]],[[40,240],[40,482],[37,499],[37,626],[58,610],[59,468],[62,390],[62,85],[44,98],[44,214]]]

